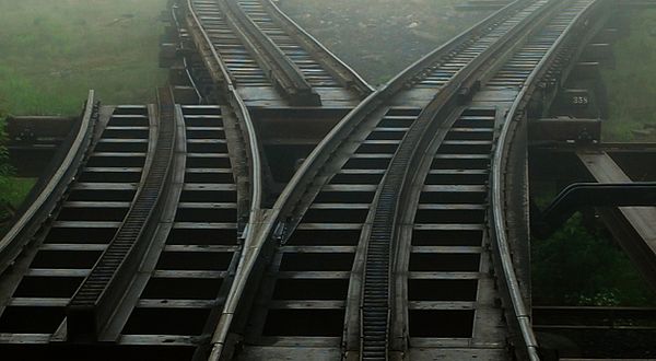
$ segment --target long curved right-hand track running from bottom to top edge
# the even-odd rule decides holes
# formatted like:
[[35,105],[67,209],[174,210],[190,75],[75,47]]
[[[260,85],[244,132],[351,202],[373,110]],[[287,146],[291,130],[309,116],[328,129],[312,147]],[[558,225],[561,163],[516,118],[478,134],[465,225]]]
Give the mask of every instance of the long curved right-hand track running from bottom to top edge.
[[[504,263],[505,228],[488,224],[505,222],[493,212],[505,202],[491,201],[490,168],[506,110],[595,3],[514,2],[351,112],[296,173],[241,265],[237,316],[221,329],[243,340],[221,351],[235,347],[239,360],[506,359],[513,345],[537,359]],[[501,101],[491,95],[500,92]]]

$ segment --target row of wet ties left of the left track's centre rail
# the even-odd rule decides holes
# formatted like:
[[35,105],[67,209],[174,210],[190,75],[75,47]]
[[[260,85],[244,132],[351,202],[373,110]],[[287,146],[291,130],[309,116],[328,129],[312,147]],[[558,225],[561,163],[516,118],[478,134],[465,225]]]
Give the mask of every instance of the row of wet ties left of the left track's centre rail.
[[[43,243],[27,256],[24,277],[3,284],[14,290],[3,304],[2,333],[49,338],[61,329],[66,306],[114,238],[148,173],[156,130],[150,110],[114,109]],[[30,314],[40,315],[38,322],[25,324]]]

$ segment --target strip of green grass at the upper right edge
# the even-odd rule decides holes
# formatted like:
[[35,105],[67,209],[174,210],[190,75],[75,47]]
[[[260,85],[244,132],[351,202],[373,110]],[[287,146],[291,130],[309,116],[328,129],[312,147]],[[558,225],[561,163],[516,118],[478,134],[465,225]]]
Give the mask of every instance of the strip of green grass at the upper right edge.
[[604,124],[605,141],[656,141],[656,131],[646,138],[632,130],[656,126],[656,10],[629,14],[629,36],[613,44],[616,69],[604,69],[608,89],[609,119]]

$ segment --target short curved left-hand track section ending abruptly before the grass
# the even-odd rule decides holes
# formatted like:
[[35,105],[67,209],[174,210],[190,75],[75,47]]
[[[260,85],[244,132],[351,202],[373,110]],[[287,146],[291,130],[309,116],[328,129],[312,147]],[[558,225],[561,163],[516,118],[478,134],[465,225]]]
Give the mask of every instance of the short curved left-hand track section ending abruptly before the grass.
[[1,254],[11,265],[3,352],[203,359],[239,259],[258,155],[230,106],[179,106],[160,94],[159,107],[98,109],[90,100],[86,118],[101,113],[96,138],[85,130],[87,158],[52,180],[63,183],[61,200],[28,224],[33,236],[3,240],[12,245]]

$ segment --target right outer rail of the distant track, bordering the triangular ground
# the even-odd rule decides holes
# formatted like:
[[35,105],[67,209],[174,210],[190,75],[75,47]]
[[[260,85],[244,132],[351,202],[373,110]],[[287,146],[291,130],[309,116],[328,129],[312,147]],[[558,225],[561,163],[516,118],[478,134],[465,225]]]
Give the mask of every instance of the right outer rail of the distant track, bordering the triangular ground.
[[291,35],[294,36],[302,44],[307,45],[312,48],[313,53],[324,54],[325,56],[319,57],[318,61],[324,65],[328,70],[331,70],[340,82],[347,88],[353,86],[359,93],[366,95],[376,91],[375,88],[370,85],[353,68],[339,59],[332,51],[330,51],[324,44],[312,36],[306,30],[301,27],[293,19],[284,13],[272,0],[261,0],[265,7],[271,9],[274,16],[281,20],[281,23],[286,28],[291,30]]

